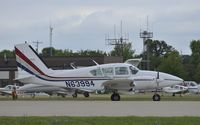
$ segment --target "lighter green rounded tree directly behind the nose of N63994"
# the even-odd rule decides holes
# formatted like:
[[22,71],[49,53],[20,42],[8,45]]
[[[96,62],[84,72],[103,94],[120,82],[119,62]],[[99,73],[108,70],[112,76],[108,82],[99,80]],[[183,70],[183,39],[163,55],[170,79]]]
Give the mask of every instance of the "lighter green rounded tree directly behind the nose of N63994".
[[158,70],[179,76],[183,79],[185,79],[187,75],[182,64],[181,56],[177,51],[170,52],[163,56]]

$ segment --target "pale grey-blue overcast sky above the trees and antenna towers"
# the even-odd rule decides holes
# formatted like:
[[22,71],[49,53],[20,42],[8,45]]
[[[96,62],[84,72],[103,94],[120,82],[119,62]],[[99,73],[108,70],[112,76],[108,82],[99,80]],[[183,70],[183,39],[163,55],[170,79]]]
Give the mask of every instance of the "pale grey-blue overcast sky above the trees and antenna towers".
[[191,54],[190,41],[200,39],[200,0],[0,0],[0,50],[12,50],[17,43],[41,41],[49,46],[49,25],[53,26],[53,47],[57,49],[99,49],[111,51],[105,34],[129,34],[136,53],[143,49],[140,29],[154,33],[183,54]]

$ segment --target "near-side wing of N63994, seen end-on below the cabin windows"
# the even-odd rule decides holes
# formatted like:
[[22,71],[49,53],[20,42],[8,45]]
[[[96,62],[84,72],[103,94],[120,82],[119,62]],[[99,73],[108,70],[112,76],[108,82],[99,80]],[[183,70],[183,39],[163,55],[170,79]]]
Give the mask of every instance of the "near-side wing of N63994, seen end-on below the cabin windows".
[[103,83],[103,86],[106,89],[111,89],[111,90],[130,91],[131,89],[134,88],[135,84],[133,80],[130,79],[114,79]]

